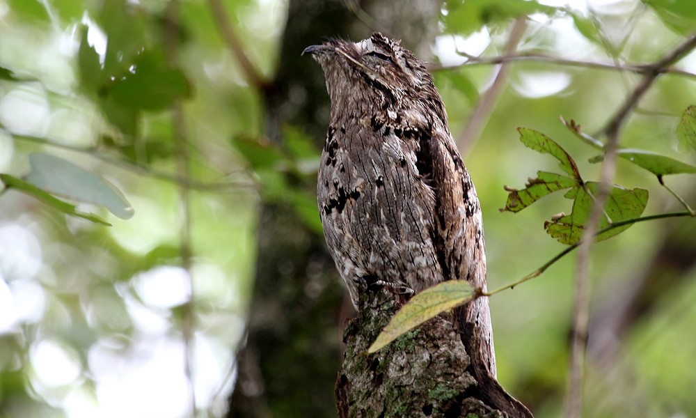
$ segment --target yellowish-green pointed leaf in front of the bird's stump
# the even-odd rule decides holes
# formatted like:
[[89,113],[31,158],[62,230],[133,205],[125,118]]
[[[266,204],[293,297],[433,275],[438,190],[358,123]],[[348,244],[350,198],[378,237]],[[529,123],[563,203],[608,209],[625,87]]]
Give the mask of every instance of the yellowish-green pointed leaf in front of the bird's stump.
[[454,307],[473,300],[477,291],[467,281],[450,280],[413,296],[391,318],[367,353],[375,353],[400,335]]

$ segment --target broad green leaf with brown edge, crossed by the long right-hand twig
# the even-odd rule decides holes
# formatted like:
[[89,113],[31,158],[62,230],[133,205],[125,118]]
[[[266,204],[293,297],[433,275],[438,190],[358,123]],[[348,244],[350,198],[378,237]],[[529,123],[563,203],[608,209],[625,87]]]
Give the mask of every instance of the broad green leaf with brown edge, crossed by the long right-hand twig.
[[[585,184],[585,187],[576,187],[573,191],[574,194],[566,195],[574,199],[573,212],[570,215],[564,215],[544,223],[544,229],[546,229],[548,235],[566,245],[574,245],[583,238],[585,225],[594,206],[594,196],[599,192],[599,183],[589,182]],[[604,206],[606,216],[601,217],[598,229],[605,229],[610,226],[610,222],[621,222],[640,217],[643,210],[645,210],[647,201],[648,191],[645,189],[636,188],[629,190],[616,185],[613,186]],[[611,238],[625,231],[630,226],[621,226],[601,233],[597,235],[596,240],[601,241]]]

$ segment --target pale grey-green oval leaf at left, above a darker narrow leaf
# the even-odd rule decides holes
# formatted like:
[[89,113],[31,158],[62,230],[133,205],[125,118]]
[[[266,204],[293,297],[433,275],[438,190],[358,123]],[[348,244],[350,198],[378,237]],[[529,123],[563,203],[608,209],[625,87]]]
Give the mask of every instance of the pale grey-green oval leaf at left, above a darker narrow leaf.
[[26,181],[52,194],[76,201],[104,206],[109,212],[128,219],[133,208],[115,187],[92,173],[53,155],[29,154],[31,172]]

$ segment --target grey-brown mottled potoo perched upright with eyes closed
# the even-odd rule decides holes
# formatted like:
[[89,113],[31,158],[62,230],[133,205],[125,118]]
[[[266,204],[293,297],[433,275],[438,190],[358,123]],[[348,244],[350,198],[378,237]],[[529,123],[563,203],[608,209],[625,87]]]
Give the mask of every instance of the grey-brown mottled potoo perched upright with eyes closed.
[[[322,66],[331,96],[317,199],[353,303],[375,283],[418,293],[462,279],[485,290],[479,200],[425,64],[381,33],[303,53]],[[487,298],[460,316],[495,376]]]

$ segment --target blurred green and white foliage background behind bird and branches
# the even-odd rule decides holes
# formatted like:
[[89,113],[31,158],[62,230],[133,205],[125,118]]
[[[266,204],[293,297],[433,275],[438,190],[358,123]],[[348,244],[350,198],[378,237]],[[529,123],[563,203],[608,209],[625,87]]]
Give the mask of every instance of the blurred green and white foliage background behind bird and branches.
[[[598,179],[587,162],[596,150],[559,117],[599,131],[640,79],[629,67],[695,31],[696,8],[0,0],[0,173],[21,178],[30,153],[47,153],[108,180],[134,210],[120,219],[79,203],[104,226],[1,192],[1,417],[335,416],[352,307],[315,205],[328,98],[300,52],[373,30],[433,63],[481,199],[497,288],[564,249],[543,223],[571,210],[549,196],[516,215],[498,211],[503,185],[557,168],[515,128],[553,137],[585,180]],[[491,62],[506,53],[521,58]],[[696,102],[696,54],[675,67],[691,74],[658,79],[621,145],[693,164],[675,130]],[[693,176],[666,182],[696,204]],[[628,162],[615,183],[649,189],[646,214],[680,208]],[[688,218],[638,224],[594,247],[587,417],[696,416],[695,263]],[[500,381],[537,417],[562,412],[574,271],[567,256],[491,298]]]

